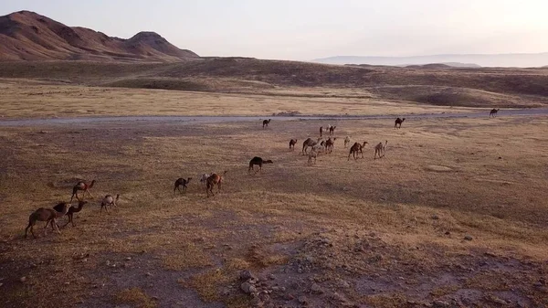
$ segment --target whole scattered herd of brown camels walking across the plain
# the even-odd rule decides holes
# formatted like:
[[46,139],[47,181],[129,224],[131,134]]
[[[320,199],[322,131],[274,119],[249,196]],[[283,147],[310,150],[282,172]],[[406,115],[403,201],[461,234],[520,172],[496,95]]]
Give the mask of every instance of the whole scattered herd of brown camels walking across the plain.
[[[497,112],[499,112],[500,109],[492,109],[490,111],[489,116],[495,117]],[[264,120],[262,122],[263,129],[269,127],[270,120]],[[402,127],[402,123],[406,121],[406,118],[395,119],[395,129],[399,129]],[[325,152],[325,153],[331,153],[334,142],[337,138],[331,137],[332,134],[334,134],[336,126],[327,125],[326,128],[323,126],[320,127],[320,138],[318,138],[316,141],[312,140],[311,138],[306,139],[302,143],[302,151],[301,153],[303,155],[308,155],[309,159],[308,162],[315,164],[316,158],[319,153]],[[322,140],[323,132],[329,132],[329,139]],[[297,143],[297,139],[291,139],[290,140],[290,150],[295,149],[295,144]],[[346,136],[344,138],[344,147],[347,148],[348,144],[350,143],[350,137]],[[386,151],[386,144],[388,141],[386,140],[385,143],[377,143],[374,146],[374,159],[385,157],[385,151]],[[362,158],[364,158],[364,146],[367,144],[367,142],[364,143],[353,143],[353,145],[350,147],[350,152],[348,154],[348,160],[350,160],[350,156],[353,156],[354,160],[359,158],[359,154],[362,154]],[[308,152],[308,149],[311,148],[311,151]],[[273,164],[271,160],[264,160],[261,157],[255,156],[249,161],[249,168],[248,172],[251,172],[252,170],[257,172],[260,172],[262,170],[262,165],[264,164]],[[255,170],[255,165],[258,165],[258,170]],[[209,197],[209,194],[211,193],[212,196],[215,196],[215,193],[213,192],[213,188],[217,186],[218,191],[221,190],[221,185],[223,183],[223,179],[227,175],[227,171],[225,171],[223,174],[219,175],[216,173],[212,174],[204,174],[200,178],[200,182],[205,185],[205,193],[207,197]],[[186,191],[188,183],[190,183],[190,180],[192,177],[183,178],[180,177],[177,180],[175,180],[174,183],[174,193],[176,191],[181,191],[181,187],[183,187],[183,190]],[[36,236],[34,234],[34,226],[36,225],[37,221],[46,221],[46,227],[44,227],[44,232],[47,231],[47,226],[51,225],[52,230],[57,231],[60,234],[59,227],[57,224],[57,218],[61,218],[63,216],[68,216],[68,221],[65,225],[63,225],[63,228],[66,227],[69,223],[72,224],[74,227],[74,221],[73,221],[73,215],[74,213],[78,213],[82,208],[88,203],[88,201],[84,201],[83,199],[86,196],[86,193],[92,198],[90,193],[90,188],[93,187],[95,184],[95,180],[92,180],[91,182],[84,182],[79,181],[75,186],[72,187],[72,196],[70,196],[69,202],[59,202],[58,205],[52,208],[47,207],[40,207],[36,211],[34,211],[30,216],[28,217],[28,225],[25,228],[25,238],[27,235],[28,230],[30,229],[30,233],[32,236],[36,239]],[[78,196],[78,192],[83,191],[83,196],[80,199]],[[79,203],[77,207],[72,206],[72,200],[76,196]],[[116,202],[119,200],[120,195],[116,195],[116,197],[112,195],[104,196],[101,204],[100,204],[100,213],[102,213],[102,209],[104,208],[105,211],[109,212],[109,207],[116,207]]]

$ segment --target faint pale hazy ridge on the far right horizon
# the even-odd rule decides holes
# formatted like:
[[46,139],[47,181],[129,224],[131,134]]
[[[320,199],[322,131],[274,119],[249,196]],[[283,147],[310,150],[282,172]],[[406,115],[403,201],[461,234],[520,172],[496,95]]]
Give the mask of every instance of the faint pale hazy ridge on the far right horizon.
[[326,64],[369,64],[390,66],[426,65],[433,63],[457,66],[455,63],[470,63],[481,67],[537,68],[548,65],[548,52],[529,54],[448,54],[414,57],[337,56],[330,58],[316,58],[311,61]]

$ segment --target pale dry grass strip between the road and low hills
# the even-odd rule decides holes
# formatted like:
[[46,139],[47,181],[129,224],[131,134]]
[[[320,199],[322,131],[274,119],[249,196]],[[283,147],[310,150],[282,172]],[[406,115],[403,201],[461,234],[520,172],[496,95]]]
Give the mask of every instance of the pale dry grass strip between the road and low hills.
[[204,93],[41,84],[37,80],[0,80],[4,118],[114,115],[270,115],[409,114],[471,112],[472,108],[385,101],[367,90],[292,89],[250,91],[249,94]]

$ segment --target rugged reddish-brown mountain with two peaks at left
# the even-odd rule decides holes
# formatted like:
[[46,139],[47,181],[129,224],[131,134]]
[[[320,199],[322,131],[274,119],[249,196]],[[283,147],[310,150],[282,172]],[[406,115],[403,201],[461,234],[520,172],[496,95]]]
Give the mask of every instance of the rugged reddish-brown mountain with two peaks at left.
[[68,27],[34,12],[0,16],[0,60],[181,61],[199,58],[154,32],[129,39],[86,27]]

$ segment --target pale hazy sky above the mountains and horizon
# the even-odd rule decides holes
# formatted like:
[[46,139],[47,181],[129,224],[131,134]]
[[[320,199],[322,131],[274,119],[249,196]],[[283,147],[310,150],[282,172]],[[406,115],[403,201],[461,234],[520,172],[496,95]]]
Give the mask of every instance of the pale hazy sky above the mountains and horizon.
[[200,56],[548,51],[548,0],[0,0],[112,37],[154,31]]

